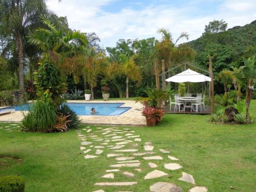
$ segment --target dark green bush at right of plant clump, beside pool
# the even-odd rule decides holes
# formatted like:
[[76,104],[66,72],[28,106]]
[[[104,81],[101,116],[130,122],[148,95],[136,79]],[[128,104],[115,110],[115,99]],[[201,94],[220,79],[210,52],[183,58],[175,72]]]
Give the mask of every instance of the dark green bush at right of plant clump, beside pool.
[[81,123],[79,116],[72,109],[70,109],[69,105],[67,104],[62,104],[58,110],[58,113],[65,115],[67,120],[70,121],[67,123],[68,129],[76,129]]

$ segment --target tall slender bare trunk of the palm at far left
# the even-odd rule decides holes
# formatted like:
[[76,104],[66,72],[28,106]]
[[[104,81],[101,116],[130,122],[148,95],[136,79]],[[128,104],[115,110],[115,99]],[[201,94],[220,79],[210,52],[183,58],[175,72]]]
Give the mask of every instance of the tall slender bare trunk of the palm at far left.
[[24,45],[20,35],[16,37],[16,44],[18,48],[18,77],[19,77],[19,96],[20,99],[24,98]]

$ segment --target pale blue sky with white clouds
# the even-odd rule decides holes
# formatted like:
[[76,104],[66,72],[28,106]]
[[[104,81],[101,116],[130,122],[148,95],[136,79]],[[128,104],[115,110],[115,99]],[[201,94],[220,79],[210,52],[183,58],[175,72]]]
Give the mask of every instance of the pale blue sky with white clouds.
[[47,5],[58,16],[67,16],[71,29],[95,32],[104,48],[121,38],[160,39],[160,28],[169,29],[174,40],[187,32],[190,41],[214,19],[225,20],[228,28],[256,19],[255,0],[47,0]]

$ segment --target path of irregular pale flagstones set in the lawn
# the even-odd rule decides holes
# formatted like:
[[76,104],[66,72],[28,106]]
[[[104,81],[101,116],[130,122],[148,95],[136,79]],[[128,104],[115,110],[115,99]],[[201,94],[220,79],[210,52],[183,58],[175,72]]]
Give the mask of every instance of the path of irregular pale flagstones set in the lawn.
[[[82,154],[85,154],[84,159],[86,161],[100,161],[99,158],[108,158],[110,162],[112,162],[112,164],[105,167],[102,175],[99,176],[99,180],[103,182],[95,182],[94,184],[95,187],[98,186],[100,188],[93,192],[104,192],[104,187],[110,190],[109,188],[111,186],[126,186],[126,190],[119,190],[119,192],[133,192],[131,189],[130,191],[127,190],[127,186],[132,187],[138,184],[137,179],[139,177],[136,177],[138,173],[144,173],[144,180],[161,179],[162,177],[172,175],[171,171],[175,170],[177,172],[179,171],[178,169],[182,168],[181,164],[172,162],[180,161],[180,159],[170,156],[169,154],[172,154],[171,150],[168,151],[163,148],[154,150],[155,147],[153,143],[149,141],[145,142],[143,145],[140,143],[140,136],[137,135],[135,131],[131,131],[128,128],[108,127],[102,129],[101,127],[96,127],[96,129],[90,129],[90,126],[86,128],[87,129],[77,131],[78,139],[81,141],[80,150],[83,152]],[[97,159],[90,160],[94,158]],[[148,162],[148,160],[150,160],[150,162]],[[115,162],[113,163],[113,161]],[[144,165],[146,165],[146,167]],[[158,166],[164,167],[164,172],[155,169]],[[103,167],[100,168],[102,169]],[[120,181],[119,177],[121,175],[123,179]],[[111,182],[112,179],[114,179],[113,182]],[[185,172],[182,172],[182,177],[177,179],[195,184],[193,176]],[[118,190],[113,188],[112,191]],[[182,188],[175,183],[156,182],[148,186],[148,190],[146,191],[181,192]],[[206,191],[206,187],[195,185],[188,190],[188,192]]]

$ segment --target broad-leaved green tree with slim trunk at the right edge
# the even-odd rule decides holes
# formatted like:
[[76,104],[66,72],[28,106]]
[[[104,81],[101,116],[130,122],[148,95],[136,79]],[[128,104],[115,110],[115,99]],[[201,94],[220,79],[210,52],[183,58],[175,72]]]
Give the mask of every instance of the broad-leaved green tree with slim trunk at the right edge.
[[246,123],[250,123],[250,102],[251,102],[251,95],[253,92],[254,81],[256,77],[256,66],[255,66],[255,56],[252,58],[248,58],[244,61],[244,66],[241,67],[241,73],[235,73],[238,79],[246,84]]

